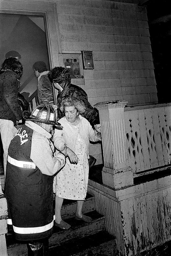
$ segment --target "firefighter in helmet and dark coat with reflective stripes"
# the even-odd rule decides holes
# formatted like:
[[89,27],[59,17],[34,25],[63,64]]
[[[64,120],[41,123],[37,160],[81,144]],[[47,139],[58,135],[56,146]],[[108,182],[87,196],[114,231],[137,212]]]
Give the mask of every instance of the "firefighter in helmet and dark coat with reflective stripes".
[[14,134],[8,151],[5,193],[8,225],[15,238],[26,241],[28,255],[48,255],[48,237],[53,230],[53,175],[65,164],[66,149],[53,156],[49,133],[56,122],[50,105],[39,105]]

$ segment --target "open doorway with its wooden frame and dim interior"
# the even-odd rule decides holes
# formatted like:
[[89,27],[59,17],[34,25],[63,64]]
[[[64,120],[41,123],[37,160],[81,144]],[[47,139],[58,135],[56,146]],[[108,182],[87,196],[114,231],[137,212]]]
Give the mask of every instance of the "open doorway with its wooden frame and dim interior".
[[[3,15],[8,15],[8,22],[6,20],[7,16]],[[23,2],[22,0],[0,0],[0,24],[3,31],[1,31],[0,62],[2,63],[4,61],[5,53],[10,50],[16,50],[20,53],[20,60],[24,69],[20,92],[25,92],[24,96],[26,99],[30,97],[35,88],[37,88],[37,79],[32,70],[32,65],[35,61],[40,60],[41,57],[46,63],[47,68],[48,66],[50,68],[61,66],[58,54],[62,52],[62,47],[57,17],[58,14],[55,3],[35,0],[31,2]],[[25,27],[22,22],[25,23]],[[7,38],[9,34],[12,35],[12,39],[9,38],[8,41]],[[21,35],[24,36],[25,40],[22,39]],[[39,35],[41,38],[39,41],[41,42],[37,44]],[[29,45],[29,40],[33,37],[35,44],[30,42]],[[20,44],[18,43],[19,40]],[[10,47],[11,42],[12,49]],[[54,102],[56,103],[55,93],[53,89]],[[0,152],[0,155],[2,156],[3,152]],[[1,184],[3,184],[4,177],[1,173],[0,178]]]

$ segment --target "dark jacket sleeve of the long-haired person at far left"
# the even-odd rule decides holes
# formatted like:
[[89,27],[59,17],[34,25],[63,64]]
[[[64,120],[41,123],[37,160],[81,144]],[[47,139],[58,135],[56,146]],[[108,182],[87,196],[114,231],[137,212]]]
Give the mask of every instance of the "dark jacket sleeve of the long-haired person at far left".
[[2,94],[8,107],[18,121],[22,119],[22,110],[18,102],[18,84],[17,77],[15,75],[8,74],[3,83]]

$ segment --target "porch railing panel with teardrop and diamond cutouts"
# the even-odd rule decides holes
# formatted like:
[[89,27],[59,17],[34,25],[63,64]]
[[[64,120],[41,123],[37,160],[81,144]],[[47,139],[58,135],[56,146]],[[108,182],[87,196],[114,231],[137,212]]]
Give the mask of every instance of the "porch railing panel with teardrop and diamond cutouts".
[[124,110],[128,162],[133,173],[171,164],[171,104]]

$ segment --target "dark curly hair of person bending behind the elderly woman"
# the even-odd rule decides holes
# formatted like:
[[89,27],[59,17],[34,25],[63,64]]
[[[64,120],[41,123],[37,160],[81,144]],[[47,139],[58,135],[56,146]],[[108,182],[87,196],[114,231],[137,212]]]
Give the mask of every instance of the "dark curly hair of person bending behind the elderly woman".
[[54,83],[62,84],[65,81],[71,81],[69,71],[63,67],[54,67],[49,72],[49,78]]

